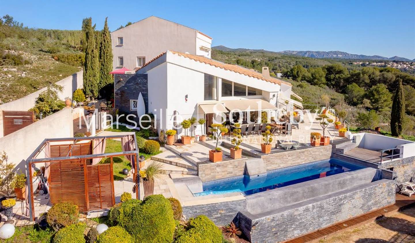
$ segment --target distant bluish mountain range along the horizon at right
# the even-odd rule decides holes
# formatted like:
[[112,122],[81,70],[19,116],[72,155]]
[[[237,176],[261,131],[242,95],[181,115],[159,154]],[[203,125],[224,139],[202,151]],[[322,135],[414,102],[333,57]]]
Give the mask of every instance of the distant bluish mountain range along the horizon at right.
[[221,50],[225,52],[268,52],[268,53],[280,53],[286,55],[296,55],[296,56],[306,56],[312,58],[340,58],[340,59],[370,59],[370,60],[389,60],[389,61],[415,61],[415,59],[410,60],[400,56],[366,56],[359,54],[350,54],[347,52],[331,51],[331,52],[320,52],[320,51],[282,51],[282,52],[271,52],[264,49],[245,49],[245,48],[236,48],[232,49],[225,46],[216,46],[212,49]]

